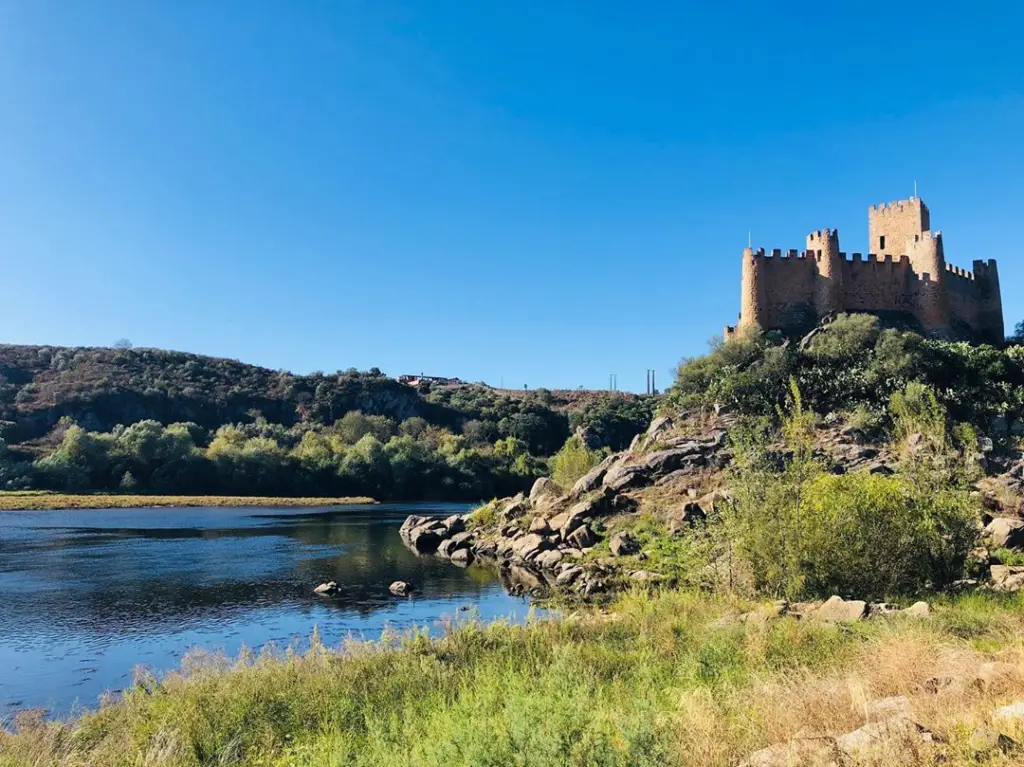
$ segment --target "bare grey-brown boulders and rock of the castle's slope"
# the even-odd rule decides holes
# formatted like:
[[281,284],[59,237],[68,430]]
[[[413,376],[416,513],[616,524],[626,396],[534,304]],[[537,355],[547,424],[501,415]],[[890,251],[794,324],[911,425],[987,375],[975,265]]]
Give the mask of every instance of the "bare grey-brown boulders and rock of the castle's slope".
[[[673,574],[657,568],[649,547],[653,541],[656,548],[659,537],[690,535],[730,503],[734,424],[728,416],[657,418],[628,450],[608,456],[567,491],[543,477],[528,496],[496,500],[471,514],[411,516],[401,527],[402,540],[420,554],[460,566],[474,561],[497,566],[520,592],[557,590],[592,598],[637,583],[671,586]],[[911,435],[911,448],[921,439]],[[838,419],[825,419],[816,430],[813,454],[833,474],[890,476],[899,468],[891,443]],[[972,460],[983,470],[972,493],[979,509],[972,567],[981,581],[959,585],[985,582],[1017,590],[1024,586],[1024,566],[1005,564],[1000,557],[1024,551],[1024,461],[1019,453],[995,457],[988,438],[979,440]],[[632,531],[641,516],[648,528],[654,525],[646,542]]]

